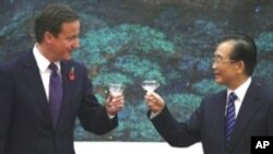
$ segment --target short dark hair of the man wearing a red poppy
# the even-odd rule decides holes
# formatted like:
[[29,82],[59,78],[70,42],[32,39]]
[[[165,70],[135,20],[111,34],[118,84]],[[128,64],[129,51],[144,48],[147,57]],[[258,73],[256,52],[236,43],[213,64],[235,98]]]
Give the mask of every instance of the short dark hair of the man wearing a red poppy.
[[51,4],[46,7],[35,20],[35,36],[43,42],[44,34],[50,32],[55,37],[61,32],[63,23],[78,21],[79,15],[68,7]]

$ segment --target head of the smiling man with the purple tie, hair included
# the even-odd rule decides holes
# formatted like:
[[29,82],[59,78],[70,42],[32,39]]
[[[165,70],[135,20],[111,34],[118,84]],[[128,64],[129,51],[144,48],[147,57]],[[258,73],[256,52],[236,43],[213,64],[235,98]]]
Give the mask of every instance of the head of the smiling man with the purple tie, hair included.
[[35,20],[37,48],[50,62],[70,60],[79,34],[79,15],[64,5],[50,4]]

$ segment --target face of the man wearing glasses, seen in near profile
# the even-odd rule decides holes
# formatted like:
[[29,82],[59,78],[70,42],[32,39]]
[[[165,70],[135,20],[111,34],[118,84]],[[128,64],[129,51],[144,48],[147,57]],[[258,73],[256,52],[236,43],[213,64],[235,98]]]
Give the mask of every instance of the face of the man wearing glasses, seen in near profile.
[[216,83],[233,87],[237,82],[237,62],[229,59],[233,52],[234,42],[224,42],[219,44],[214,52],[212,69]]

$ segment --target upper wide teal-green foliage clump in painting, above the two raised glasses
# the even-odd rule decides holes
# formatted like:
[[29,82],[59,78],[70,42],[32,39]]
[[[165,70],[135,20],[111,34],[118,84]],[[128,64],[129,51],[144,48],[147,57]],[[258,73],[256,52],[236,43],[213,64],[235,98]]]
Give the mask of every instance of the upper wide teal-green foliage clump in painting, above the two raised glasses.
[[175,46],[159,31],[141,25],[122,24],[88,32],[81,42],[81,52],[75,57],[84,58],[88,64],[104,64],[115,55],[131,52],[174,52]]

